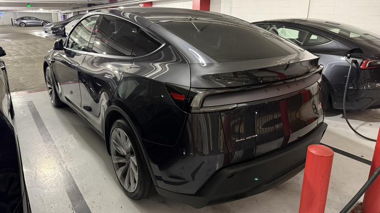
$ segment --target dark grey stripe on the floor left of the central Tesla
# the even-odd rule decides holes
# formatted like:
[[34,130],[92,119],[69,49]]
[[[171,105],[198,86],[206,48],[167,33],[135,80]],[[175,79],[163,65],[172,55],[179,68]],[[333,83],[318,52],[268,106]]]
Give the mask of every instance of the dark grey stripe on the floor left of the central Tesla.
[[59,166],[62,168],[62,170],[60,171],[62,182],[64,183],[66,194],[68,195],[75,212],[91,213],[91,210],[88,207],[86,201],[84,200],[82,193],[79,191],[79,188],[76,185],[73,176],[68,170],[66,163],[63,161],[56,144],[54,143],[45,124],[43,123],[36,106],[34,105],[33,101],[28,101],[26,103],[28,105],[30,113],[32,114],[33,120],[37,125],[38,132],[42,137],[42,141],[46,145],[45,147],[49,149],[49,153],[52,153],[56,157],[56,161],[58,162],[58,164],[60,164]]

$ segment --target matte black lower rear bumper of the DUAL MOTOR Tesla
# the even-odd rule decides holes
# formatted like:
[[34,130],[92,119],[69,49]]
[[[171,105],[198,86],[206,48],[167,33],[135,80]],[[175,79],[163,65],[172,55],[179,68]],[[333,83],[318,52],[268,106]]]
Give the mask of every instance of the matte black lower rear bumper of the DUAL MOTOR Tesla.
[[175,193],[160,187],[156,190],[160,195],[194,208],[264,192],[302,171],[307,147],[318,144],[326,128],[327,124],[322,122],[310,134],[283,149],[217,170],[195,194]]

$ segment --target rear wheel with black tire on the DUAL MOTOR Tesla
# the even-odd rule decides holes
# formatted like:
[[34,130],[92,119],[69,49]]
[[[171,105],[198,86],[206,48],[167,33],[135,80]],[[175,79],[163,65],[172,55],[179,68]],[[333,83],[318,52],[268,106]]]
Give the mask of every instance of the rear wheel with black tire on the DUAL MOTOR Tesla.
[[129,197],[140,200],[155,193],[137,136],[124,119],[116,120],[112,125],[110,151],[117,179]]

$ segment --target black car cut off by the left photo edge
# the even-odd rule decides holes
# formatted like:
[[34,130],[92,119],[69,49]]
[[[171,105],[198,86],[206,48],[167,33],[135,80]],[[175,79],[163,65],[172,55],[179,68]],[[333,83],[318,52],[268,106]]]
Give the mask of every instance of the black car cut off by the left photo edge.
[[[0,56],[5,51],[0,47]],[[19,141],[12,124],[14,116],[4,61],[0,59],[0,212],[28,213]]]

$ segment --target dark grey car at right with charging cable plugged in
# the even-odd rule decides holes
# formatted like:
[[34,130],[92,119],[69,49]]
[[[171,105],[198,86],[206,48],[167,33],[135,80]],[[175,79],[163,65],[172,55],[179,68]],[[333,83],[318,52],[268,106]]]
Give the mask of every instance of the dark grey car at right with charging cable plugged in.
[[334,108],[343,108],[344,87],[353,59],[358,62],[350,73],[346,109],[361,111],[380,107],[380,35],[348,24],[311,18],[254,24],[321,56],[326,107],[332,103]]

